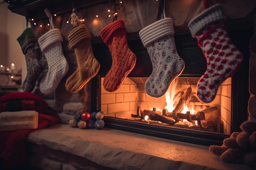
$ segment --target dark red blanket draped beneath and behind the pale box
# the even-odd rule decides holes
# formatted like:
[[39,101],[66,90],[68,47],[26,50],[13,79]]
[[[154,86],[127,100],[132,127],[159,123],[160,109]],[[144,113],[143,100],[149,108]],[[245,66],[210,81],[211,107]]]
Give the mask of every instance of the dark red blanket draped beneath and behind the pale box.
[[[38,129],[58,123],[58,114],[49,108],[45,100],[34,93],[17,92],[0,97],[1,112],[36,110],[38,112]],[[20,164],[26,159],[26,136],[36,129],[0,132],[0,158],[2,164]]]

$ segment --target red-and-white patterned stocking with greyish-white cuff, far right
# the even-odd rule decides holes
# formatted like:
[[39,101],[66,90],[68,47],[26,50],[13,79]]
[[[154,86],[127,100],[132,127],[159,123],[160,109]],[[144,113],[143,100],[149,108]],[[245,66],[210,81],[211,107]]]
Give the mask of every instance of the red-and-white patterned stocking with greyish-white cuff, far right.
[[189,22],[189,29],[207,59],[207,70],[200,77],[197,95],[202,102],[209,103],[216,97],[219,85],[232,76],[243,60],[229,39],[221,4],[216,4]]

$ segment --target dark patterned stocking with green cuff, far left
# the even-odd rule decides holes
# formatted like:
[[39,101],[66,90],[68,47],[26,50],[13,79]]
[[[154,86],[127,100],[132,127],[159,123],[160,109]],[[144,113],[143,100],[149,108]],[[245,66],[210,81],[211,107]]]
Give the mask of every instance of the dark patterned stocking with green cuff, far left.
[[27,65],[27,76],[22,83],[22,89],[23,91],[31,92],[35,87],[36,80],[42,72],[42,66],[35,56],[36,38],[32,28],[25,29],[17,40],[21,46],[22,53],[25,54]]

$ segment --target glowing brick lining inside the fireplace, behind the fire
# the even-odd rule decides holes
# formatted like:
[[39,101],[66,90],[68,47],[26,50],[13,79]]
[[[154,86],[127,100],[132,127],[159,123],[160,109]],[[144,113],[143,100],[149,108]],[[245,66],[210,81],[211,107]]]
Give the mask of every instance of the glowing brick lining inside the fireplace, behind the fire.
[[[134,119],[131,114],[136,114],[137,107],[143,110],[152,110],[156,108],[162,111],[166,106],[165,96],[155,98],[145,92],[145,79],[136,80],[134,77],[126,77],[121,87],[115,92],[107,92],[103,88],[103,79],[101,78],[101,110],[105,116],[118,117],[121,119]],[[132,79],[135,81],[132,81]],[[196,85],[198,77],[179,77],[178,84],[180,91],[186,91],[192,88],[192,94],[196,96]],[[223,82],[217,92],[213,102],[206,104],[208,106],[218,106],[220,108],[220,119],[224,124],[224,133],[230,134],[231,121],[231,77]]]

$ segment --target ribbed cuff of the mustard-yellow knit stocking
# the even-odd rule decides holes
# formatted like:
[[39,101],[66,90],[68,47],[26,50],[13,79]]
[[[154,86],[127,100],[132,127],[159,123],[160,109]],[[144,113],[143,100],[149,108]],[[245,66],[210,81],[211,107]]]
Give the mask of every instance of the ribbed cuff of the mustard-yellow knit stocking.
[[71,48],[73,48],[76,44],[87,38],[91,39],[92,36],[84,24],[73,29],[67,37],[68,41],[70,42]]

